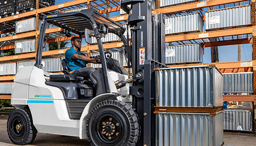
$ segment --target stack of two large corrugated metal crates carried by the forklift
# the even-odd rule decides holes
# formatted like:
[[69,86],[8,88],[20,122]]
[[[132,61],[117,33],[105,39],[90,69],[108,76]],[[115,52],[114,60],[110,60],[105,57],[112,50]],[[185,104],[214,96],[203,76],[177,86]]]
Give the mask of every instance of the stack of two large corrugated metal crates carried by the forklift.
[[221,146],[221,83],[215,66],[156,70],[156,145]]

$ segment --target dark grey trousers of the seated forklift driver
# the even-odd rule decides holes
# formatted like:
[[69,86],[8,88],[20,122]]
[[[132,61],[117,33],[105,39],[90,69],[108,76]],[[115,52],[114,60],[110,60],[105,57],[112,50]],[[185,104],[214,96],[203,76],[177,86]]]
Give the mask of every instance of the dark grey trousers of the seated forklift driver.
[[75,75],[76,76],[84,77],[85,80],[90,79],[92,84],[94,85],[94,87],[97,90],[97,82],[96,82],[96,80],[91,75],[91,73],[93,71],[95,71],[95,69],[93,67],[83,67],[83,68],[77,69]]

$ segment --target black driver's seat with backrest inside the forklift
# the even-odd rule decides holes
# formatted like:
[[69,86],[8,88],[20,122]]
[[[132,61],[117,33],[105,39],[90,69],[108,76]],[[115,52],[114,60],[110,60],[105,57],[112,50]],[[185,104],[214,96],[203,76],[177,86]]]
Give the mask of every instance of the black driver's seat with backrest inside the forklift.
[[69,69],[67,66],[67,63],[65,61],[65,58],[62,59],[62,67],[63,70],[62,72],[64,75],[50,75],[50,81],[55,81],[55,82],[81,82],[84,81],[83,77],[80,76],[75,76],[69,73]]

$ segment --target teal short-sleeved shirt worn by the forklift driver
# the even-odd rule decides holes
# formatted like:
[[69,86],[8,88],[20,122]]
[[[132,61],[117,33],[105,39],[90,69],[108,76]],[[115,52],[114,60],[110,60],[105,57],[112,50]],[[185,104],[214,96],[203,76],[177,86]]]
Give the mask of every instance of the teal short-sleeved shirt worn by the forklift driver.
[[70,49],[66,50],[66,52],[65,52],[65,61],[66,61],[67,66],[69,68],[68,71],[73,71],[72,75],[75,75],[77,69],[82,68],[82,67],[87,67],[86,66],[87,62],[86,61],[72,59],[72,56],[74,54],[86,56],[84,53],[79,52],[79,50],[77,50],[77,51],[74,48],[71,47]]

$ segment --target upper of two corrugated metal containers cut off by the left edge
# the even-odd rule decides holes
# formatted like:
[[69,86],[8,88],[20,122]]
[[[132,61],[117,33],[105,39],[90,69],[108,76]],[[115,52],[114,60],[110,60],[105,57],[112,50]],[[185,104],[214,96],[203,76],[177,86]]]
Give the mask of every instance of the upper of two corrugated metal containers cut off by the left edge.
[[16,63],[2,63],[0,64],[0,76],[1,75],[15,75]]

